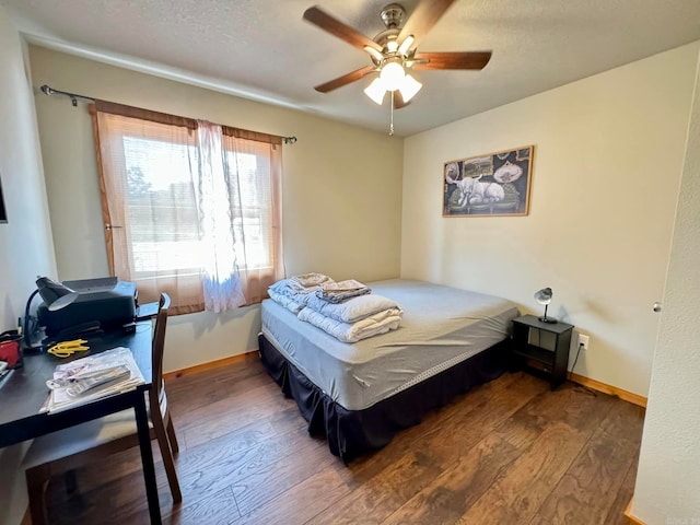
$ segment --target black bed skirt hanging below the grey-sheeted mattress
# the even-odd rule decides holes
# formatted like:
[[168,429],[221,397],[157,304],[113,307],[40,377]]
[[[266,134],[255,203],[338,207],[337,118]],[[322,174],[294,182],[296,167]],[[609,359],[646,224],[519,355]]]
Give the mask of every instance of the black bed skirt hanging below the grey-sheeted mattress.
[[258,342],[262,365],[282,393],[296,401],[308,433],[325,435],[330,452],[346,463],[385,446],[399,430],[420,423],[428,411],[457,394],[495,380],[508,370],[510,353],[506,339],[364,410],[348,410],[287,361],[262,334]]

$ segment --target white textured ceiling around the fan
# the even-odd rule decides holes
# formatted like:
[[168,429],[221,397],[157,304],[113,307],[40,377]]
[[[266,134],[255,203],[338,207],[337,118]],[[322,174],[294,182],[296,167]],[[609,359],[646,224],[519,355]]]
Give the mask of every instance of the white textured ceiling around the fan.
[[[386,131],[389,107],[354,82],[314,85],[370,65],[366,54],[302,20],[314,0],[0,0],[47,47],[149,70]],[[319,0],[373,37],[387,0]],[[418,0],[400,2],[408,15]],[[420,71],[395,114],[408,136],[700,39],[700,0],[457,0],[421,51],[492,50],[482,71]],[[58,90],[61,86],[52,86]],[[85,93],[89,95],[90,93]]]

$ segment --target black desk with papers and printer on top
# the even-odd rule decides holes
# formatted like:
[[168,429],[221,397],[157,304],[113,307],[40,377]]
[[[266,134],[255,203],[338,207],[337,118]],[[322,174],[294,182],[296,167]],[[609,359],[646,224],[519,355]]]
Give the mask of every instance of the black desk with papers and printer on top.
[[[48,353],[25,355],[22,369],[13,370],[0,380],[0,447],[102,418],[108,413],[133,408],[151,523],[160,524],[161,510],[143,395],[151,386],[151,324],[149,322],[138,323],[133,334],[124,334],[121,330],[117,330],[97,338],[91,338],[89,339],[89,351],[78,352],[67,359],[58,359]],[[52,377],[54,369],[57,364],[100,353],[115,347],[131,349],[145,380],[144,385],[131,392],[98,399],[58,413],[39,413],[39,409],[48,396],[46,380]]]

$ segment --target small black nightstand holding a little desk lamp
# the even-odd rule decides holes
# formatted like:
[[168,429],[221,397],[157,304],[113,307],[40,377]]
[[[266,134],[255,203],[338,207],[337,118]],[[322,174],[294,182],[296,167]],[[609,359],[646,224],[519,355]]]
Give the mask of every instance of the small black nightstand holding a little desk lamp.
[[513,354],[515,364],[546,374],[553,390],[567,378],[569,347],[573,325],[542,323],[534,315],[513,319]]

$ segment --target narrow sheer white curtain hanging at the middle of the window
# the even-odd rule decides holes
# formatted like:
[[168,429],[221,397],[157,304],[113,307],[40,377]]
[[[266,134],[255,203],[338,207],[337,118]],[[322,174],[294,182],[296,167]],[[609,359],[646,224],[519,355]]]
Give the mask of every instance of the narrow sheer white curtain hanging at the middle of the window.
[[202,234],[205,308],[224,312],[247,303],[236,260],[231,194],[224,177],[221,126],[198,120],[199,170],[195,188]]

